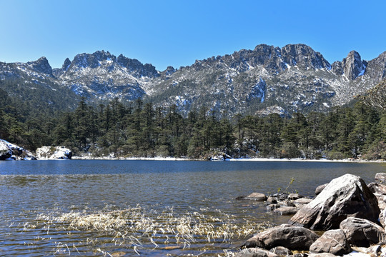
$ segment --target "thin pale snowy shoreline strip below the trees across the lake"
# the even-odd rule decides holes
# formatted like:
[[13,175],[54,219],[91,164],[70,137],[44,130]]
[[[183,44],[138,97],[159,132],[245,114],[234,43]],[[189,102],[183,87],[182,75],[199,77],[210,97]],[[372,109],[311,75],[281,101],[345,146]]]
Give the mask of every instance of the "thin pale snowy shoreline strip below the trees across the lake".
[[[175,158],[175,157],[127,157],[127,158],[112,158],[112,157],[89,157],[89,156],[72,156],[72,160],[110,160],[110,161],[206,161],[195,158]],[[212,161],[276,161],[276,162],[331,162],[331,163],[386,163],[384,160],[369,161],[369,160],[327,160],[327,159],[302,159],[302,158],[227,158],[225,160]]]

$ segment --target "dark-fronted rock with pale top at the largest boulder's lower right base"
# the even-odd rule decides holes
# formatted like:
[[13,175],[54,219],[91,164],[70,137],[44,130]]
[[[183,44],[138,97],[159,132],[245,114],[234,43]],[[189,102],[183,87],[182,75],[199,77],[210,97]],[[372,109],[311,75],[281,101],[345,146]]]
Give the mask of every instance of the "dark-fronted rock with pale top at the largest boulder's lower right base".
[[347,218],[340,223],[340,229],[352,246],[369,247],[384,241],[386,236],[381,226],[363,218]]

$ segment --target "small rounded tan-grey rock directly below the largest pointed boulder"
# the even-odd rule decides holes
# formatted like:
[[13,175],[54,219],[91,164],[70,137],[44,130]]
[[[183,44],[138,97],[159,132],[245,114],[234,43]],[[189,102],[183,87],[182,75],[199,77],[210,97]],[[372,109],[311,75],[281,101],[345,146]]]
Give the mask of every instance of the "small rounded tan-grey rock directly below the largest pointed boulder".
[[351,248],[341,229],[326,231],[310,246],[310,253],[332,253],[342,256],[350,252]]

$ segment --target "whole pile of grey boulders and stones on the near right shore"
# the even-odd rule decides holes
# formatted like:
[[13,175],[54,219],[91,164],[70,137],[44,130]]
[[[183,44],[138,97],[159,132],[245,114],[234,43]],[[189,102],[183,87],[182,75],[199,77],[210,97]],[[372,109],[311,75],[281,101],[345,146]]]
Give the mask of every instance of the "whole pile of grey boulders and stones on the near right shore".
[[[252,193],[242,197],[267,201],[268,208],[274,211],[293,208],[295,215],[287,224],[249,238],[235,256],[327,257],[343,256],[352,251],[386,256],[386,186],[383,181],[386,181],[386,173],[377,173],[375,183],[369,185],[359,176],[346,174],[318,187],[313,200],[297,194],[267,197]],[[303,200],[296,203],[300,199]],[[283,206],[285,204],[287,206]],[[294,206],[289,206],[291,204]]]

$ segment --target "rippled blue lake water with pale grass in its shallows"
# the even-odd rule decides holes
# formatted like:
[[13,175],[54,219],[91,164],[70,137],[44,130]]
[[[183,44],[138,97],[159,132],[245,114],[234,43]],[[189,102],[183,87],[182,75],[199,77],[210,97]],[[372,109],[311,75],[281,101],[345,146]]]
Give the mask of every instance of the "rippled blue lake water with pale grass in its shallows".
[[289,219],[235,197],[291,178],[289,191],[312,197],[337,176],[378,172],[385,164],[0,161],[0,256],[230,256]]

